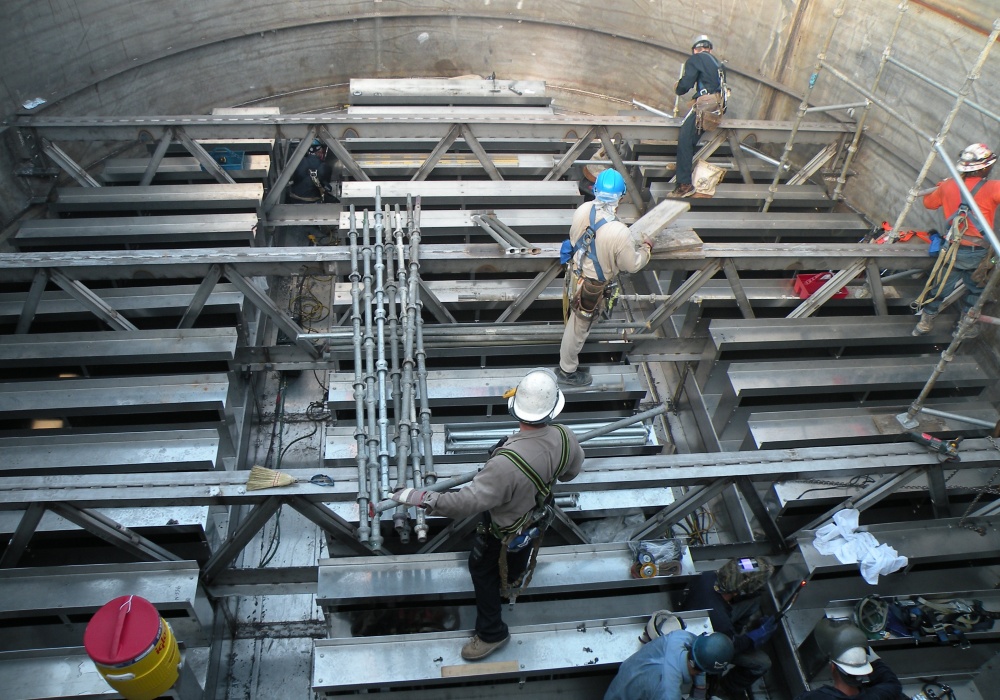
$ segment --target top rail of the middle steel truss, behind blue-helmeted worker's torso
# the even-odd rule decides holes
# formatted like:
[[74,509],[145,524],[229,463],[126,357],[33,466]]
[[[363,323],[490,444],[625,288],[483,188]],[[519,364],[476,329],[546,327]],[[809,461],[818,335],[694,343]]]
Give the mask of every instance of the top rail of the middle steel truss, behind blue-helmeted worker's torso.
[[[559,245],[541,243],[539,253],[507,255],[495,243],[421,245],[422,274],[499,271],[537,274],[559,256]],[[241,274],[292,276],[347,274],[348,246],[297,248],[201,248],[53,253],[0,253],[0,274],[9,282],[31,281],[39,269],[56,268],[73,279],[128,279],[143,271],[157,279],[201,279],[212,265]],[[648,269],[697,270],[710,259],[732,260],[737,270],[815,271],[839,269],[871,257],[880,269],[926,269],[934,263],[919,246],[862,243],[706,243],[698,250],[654,251]]]

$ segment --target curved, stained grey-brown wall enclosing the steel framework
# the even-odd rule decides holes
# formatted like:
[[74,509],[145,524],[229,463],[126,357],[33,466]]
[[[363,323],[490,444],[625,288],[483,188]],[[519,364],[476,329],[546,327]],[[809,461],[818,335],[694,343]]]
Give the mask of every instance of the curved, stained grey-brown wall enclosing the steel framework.
[[[560,103],[614,113],[632,98],[670,109],[672,85],[691,39],[707,33],[730,70],[730,116],[792,119],[831,26],[826,55],[870,87],[904,7],[893,55],[948,87],[962,88],[986,45],[995,0],[60,0],[5,10],[0,109],[9,125],[31,113],[140,115],[205,113],[212,107],[280,105],[285,113],[339,108],[359,77],[463,74],[545,80]],[[835,21],[838,8],[843,16]],[[994,114],[1000,51],[993,51],[969,99]],[[872,221],[894,220],[954,98],[889,66],[880,96],[906,123],[875,109],[846,189]],[[812,104],[858,102],[857,92],[821,72]],[[834,115],[834,118],[836,115]],[[829,118],[810,115],[810,119]],[[0,214],[12,223],[29,203],[16,134],[0,153]],[[1000,148],[997,122],[965,107],[945,141]],[[61,144],[89,166],[103,144]],[[795,152],[804,161],[811,153]],[[930,179],[945,177],[937,163]],[[36,189],[37,185],[36,184]],[[42,183],[44,184],[44,183]],[[924,183],[923,186],[930,184]],[[36,192],[37,194],[37,192]],[[919,202],[909,227],[934,225]]]

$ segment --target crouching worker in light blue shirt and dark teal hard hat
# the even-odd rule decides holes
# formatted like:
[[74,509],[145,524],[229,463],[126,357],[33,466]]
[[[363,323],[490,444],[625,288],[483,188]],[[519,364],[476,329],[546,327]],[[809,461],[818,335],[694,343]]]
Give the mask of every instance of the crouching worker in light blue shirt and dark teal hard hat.
[[674,630],[655,636],[618,668],[604,700],[681,700],[707,697],[706,674],[718,674],[733,656],[733,643],[718,632]]

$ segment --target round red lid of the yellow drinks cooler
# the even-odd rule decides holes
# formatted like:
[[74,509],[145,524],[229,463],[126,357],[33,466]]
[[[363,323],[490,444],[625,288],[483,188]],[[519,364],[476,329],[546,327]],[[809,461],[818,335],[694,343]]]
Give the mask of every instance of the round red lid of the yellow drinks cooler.
[[83,633],[87,656],[103,666],[136,660],[160,633],[160,613],[137,595],[123,595],[94,613]]

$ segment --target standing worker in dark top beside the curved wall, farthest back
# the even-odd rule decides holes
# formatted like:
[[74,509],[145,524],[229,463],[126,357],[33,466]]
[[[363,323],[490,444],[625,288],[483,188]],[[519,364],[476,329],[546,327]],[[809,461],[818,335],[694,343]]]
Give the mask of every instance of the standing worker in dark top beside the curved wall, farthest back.
[[[674,85],[677,95],[684,95],[692,88],[696,92],[695,106],[685,117],[677,137],[677,174],[675,187],[668,195],[670,197],[690,197],[694,194],[694,185],[691,184],[694,149],[701,135],[708,130],[706,127],[715,128],[704,123],[705,117],[700,112],[709,107],[721,119],[728,98],[725,82],[726,71],[712,55],[712,42],[704,34],[696,37],[691,44],[691,56],[684,62],[684,72]],[[699,98],[707,99],[699,103]]]

